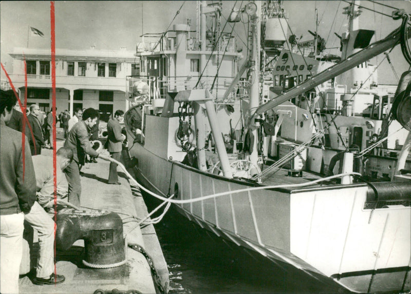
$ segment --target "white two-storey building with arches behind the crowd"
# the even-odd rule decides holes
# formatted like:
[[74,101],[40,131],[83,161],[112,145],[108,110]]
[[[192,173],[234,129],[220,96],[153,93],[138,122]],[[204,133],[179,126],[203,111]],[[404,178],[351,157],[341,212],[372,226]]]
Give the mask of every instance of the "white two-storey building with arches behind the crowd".
[[[58,112],[68,109],[70,115],[79,108],[96,108],[102,113],[126,109],[127,75],[139,72],[135,51],[55,50],[55,87]],[[11,81],[25,96],[25,66],[27,71],[27,105],[39,104],[42,111],[52,107],[50,49],[14,48]],[[107,115],[106,115],[107,117]],[[104,120],[104,119],[103,119]]]

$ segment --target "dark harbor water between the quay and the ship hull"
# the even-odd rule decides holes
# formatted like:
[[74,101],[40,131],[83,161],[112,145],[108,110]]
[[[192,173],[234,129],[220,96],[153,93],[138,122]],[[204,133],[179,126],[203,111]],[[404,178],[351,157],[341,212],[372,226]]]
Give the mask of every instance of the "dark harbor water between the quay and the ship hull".
[[[144,200],[149,211],[158,205],[149,195]],[[171,294],[347,292],[223,241],[173,208],[155,229],[169,266]]]

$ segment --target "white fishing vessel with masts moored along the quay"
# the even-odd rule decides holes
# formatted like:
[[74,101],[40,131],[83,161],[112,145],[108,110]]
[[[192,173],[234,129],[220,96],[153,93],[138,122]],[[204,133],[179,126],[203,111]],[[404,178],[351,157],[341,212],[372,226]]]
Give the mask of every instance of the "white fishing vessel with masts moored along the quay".
[[[399,28],[369,45],[371,32],[352,25],[359,15],[352,2],[341,60],[327,63],[285,47],[287,15],[278,2],[250,2],[225,17],[231,32],[237,21],[247,24],[246,52],[222,33],[220,3],[197,5],[196,37],[191,22],[167,29],[138,47],[141,75],[127,78],[137,180],[192,222],[274,263],[350,291],[409,291],[410,73],[395,95],[363,79],[368,60],[396,45],[411,61],[408,14],[396,12]],[[270,54],[279,67],[272,84],[264,79]],[[377,141],[368,143],[373,134]],[[370,154],[395,135],[397,148]]]

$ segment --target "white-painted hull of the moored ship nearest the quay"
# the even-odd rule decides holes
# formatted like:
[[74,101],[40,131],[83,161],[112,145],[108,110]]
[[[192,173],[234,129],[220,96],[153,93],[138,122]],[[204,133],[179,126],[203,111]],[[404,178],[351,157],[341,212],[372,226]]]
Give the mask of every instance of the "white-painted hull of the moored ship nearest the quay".
[[[165,197],[190,200],[253,186],[167,160],[135,143],[136,177]],[[281,183],[279,183],[281,184]],[[332,279],[355,292],[409,291],[409,207],[363,209],[367,186],[264,189],[176,209],[199,226],[273,262]]]

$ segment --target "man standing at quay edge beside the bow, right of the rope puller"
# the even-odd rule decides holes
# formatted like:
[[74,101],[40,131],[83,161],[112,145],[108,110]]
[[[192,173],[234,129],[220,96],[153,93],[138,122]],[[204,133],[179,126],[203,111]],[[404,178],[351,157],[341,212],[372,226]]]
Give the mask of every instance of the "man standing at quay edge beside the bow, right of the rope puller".
[[[117,161],[121,157],[122,142],[125,140],[125,135],[121,133],[121,126],[124,120],[124,111],[117,110],[114,113],[114,119],[109,119],[107,123],[107,150],[110,152],[111,158]],[[117,164],[110,162],[110,171],[108,174],[108,184],[120,185],[117,174]]]

